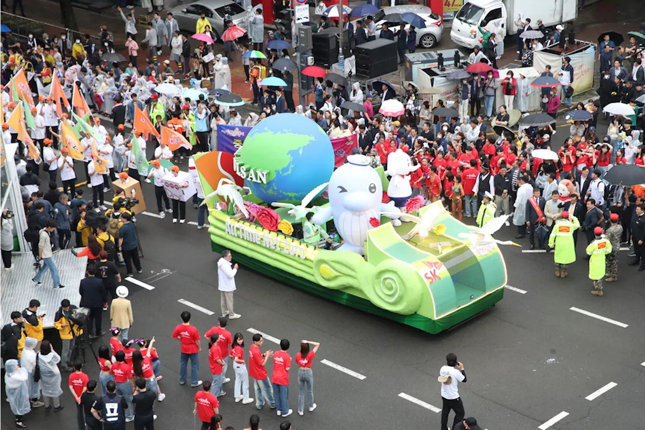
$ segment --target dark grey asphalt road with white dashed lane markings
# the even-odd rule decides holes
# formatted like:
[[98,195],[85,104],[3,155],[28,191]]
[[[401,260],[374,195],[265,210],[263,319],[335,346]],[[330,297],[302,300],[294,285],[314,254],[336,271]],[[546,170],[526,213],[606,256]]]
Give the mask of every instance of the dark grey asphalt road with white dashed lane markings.
[[[599,130],[604,132],[605,127],[606,123]],[[563,139],[560,134],[554,137],[557,142]],[[181,167],[187,169],[187,163]],[[152,185],[142,185],[149,211],[155,212]],[[160,386],[167,394],[156,407],[155,426],[162,430],[195,425],[195,389],[178,384],[179,342],[170,338],[180,322],[179,314],[191,311],[200,333],[217,324],[219,316],[219,255],[210,251],[208,232],[188,223],[172,224],[170,218],[137,217],[145,258],[144,272],[135,278],[154,289],[123,282],[130,289],[134,309],[130,338],[157,338],[155,347],[164,375]],[[196,220],[197,210],[189,205],[187,221]],[[500,240],[514,236],[514,227],[502,227],[496,234]],[[642,429],[642,275],[626,265],[628,252],[621,252],[620,281],[606,284],[604,297],[592,296],[587,263],[582,260],[583,237],[577,249],[579,261],[571,265],[566,280],[553,276],[552,254],[522,252],[528,249],[528,240],[522,242],[522,249],[504,247],[508,284],[513,289],[506,289],[504,300],[495,307],[439,335],[327,302],[246,267],[236,278],[235,311],[242,318],[230,322],[228,328],[244,333],[247,344],[249,330],[288,338],[292,354],[303,338],[321,342],[313,365],[318,408],[304,416],[290,416],[297,429],[348,429],[357,424],[374,429],[438,429],[441,396],[436,378],[450,352],[457,354],[468,373],[468,382],[460,385],[466,416],[477,417],[484,429]],[[572,311],[572,307],[600,319]],[[278,347],[269,336],[263,350]],[[97,378],[97,365],[90,361],[86,372]],[[200,376],[210,377],[205,352]],[[233,376],[232,369],[228,376]],[[291,378],[290,406],[295,411],[295,369]],[[66,374],[63,381],[65,385]],[[256,411],[253,404],[233,402],[232,384],[225,385],[230,393],[221,398],[224,426],[244,428],[248,416],[259,413],[263,429],[276,429],[282,418],[266,407]],[[606,393],[590,396],[606,386]],[[30,427],[75,428],[72,396],[66,387],[64,391],[66,409],[48,417],[43,409],[35,409],[27,416]],[[561,419],[548,427],[554,417]],[[8,404],[0,402],[0,429],[5,427],[12,428],[13,420]]]

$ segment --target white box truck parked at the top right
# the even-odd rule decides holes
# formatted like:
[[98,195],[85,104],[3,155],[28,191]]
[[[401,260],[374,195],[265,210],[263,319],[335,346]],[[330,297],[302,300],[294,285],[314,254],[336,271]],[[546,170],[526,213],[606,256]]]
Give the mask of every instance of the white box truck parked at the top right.
[[450,39],[457,45],[474,48],[481,46],[477,26],[486,23],[490,29],[502,28],[504,37],[517,34],[515,22],[522,17],[531,19],[537,30],[537,20],[546,27],[568,23],[578,15],[578,0],[468,0],[452,21]]

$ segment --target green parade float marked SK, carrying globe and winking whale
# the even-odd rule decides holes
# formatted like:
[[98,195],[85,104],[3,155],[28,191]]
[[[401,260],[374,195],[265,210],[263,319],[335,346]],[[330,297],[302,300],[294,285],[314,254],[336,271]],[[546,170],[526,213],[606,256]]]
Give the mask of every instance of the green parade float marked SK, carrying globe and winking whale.
[[[433,334],[502,300],[506,265],[491,236],[499,227],[465,225],[441,201],[389,201],[382,167],[339,154],[301,115],[263,119],[238,147],[194,156],[213,251]],[[339,156],[346,162],[335,168]]]

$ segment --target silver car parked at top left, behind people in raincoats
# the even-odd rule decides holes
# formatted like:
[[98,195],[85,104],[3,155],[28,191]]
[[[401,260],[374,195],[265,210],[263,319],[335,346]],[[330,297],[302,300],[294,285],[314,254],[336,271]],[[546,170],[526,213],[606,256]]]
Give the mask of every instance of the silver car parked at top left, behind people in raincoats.
[[246,10],[232,0],[199,0],[190,5],[177,6],[170,10],[179,23],[179,29],[186,33],[195,33],[195,24],[201,14],[205,14],[208,22],[213,26],[217,39],[222,37],[224,32],[224,17],[230,16],[233,24],[246,28]]

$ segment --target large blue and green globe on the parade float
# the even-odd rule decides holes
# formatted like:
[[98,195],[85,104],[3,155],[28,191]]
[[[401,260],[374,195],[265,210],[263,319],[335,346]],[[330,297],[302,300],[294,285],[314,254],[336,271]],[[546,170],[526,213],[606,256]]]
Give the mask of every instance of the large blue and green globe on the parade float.
[[298,114],[272,115],[252,128],[235,157],[246,170],[268,170],[266,183],[245,185],[266,203],[300,203],[334,167],[333,148],[324,130]]

